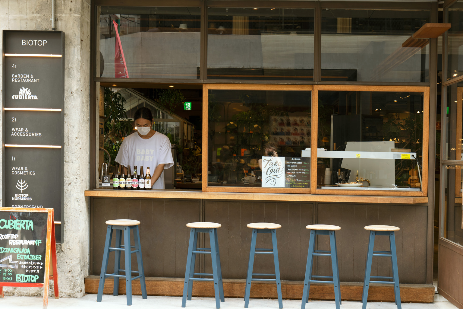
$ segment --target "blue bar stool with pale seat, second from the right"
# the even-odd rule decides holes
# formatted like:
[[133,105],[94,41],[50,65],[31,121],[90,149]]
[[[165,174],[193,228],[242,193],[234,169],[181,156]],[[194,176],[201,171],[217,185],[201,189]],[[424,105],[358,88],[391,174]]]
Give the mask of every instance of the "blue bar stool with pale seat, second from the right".
[[[334,299],[336,303],[336,309],[339,309],[341,304],[341,286],[339,282],[339,269],[338,269],[338,252],[336,250],[336,231],[339,231],[341,227],[329,224],[313,224],[306,227],[310,231],[309,239],[309,250],[307,252],[307,265],[306,265],[306,276],[304,278],[304,290],[302,292],[302,305],[301,309],[306,308],[306,303],[309,301],[309,292],[311,283],[332,283],[334,286]],[[315,236],[317,235],[329,235],[330,236],[330,249],[331,250],[315,250]],[[331,264],[333,275],[332,276],[313,276],[312,266],[314,256],[331,256]],[[322,281],[312,280],[312,278],[327,278],[333,279],[333,281]]]

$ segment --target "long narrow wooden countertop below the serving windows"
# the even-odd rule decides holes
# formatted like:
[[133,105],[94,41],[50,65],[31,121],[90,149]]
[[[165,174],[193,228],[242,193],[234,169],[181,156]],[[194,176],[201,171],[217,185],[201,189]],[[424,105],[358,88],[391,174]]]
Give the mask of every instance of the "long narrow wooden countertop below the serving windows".
[[171,198],[206,200],[244,200],[276,202],[345,202],[380,204],[420,204],[427,203],[427,197],[416,196],[377,196],[377,195],[321,195],[321,194],[277,194],[277,193],[234,193],[202,192],[199,190],[154,189],[151,191],[130,191],[112,189],[86,190],[85,196],[128,197],[128,198]]

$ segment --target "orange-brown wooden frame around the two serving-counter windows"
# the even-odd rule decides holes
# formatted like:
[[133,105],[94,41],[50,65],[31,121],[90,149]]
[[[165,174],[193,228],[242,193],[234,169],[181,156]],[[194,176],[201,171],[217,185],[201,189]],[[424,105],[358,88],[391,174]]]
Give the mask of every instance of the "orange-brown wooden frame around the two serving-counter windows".
[[[323,195],[386,195],[386,196],[427,196],[428,189],[428,151],[429,151],[429,92],[427,86],[357,86],[357,85],[275,85],[275,84],[203,84],[203,124],[202,124],[202,175],[207,176],[208,166],[208,90],[292,90],[312,91],[311,107],[311,158],[317,158],[318,136],[318,92],[319,91],[369,91],[369,92],[420,92],[423,93],[423,157],[421,171],[421,191],[386,191],[386,190],[339,190],[317,188],[317,161],[311,160],[310,188],[249,188],[249,187],[219,187],[208,186],[202,182],[203,192],[246,192],[246,193],[293,193],[293,194],[323,194]],[[315,138],[313,138],[315,137]]]

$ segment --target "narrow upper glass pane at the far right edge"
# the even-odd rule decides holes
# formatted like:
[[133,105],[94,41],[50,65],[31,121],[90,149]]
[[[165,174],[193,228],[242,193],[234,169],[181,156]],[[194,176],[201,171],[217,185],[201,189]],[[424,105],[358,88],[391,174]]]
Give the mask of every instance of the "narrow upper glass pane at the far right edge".
[[447,43],[447,79],[463,74],[463,1],[457,1],[449,8],[449,29]]

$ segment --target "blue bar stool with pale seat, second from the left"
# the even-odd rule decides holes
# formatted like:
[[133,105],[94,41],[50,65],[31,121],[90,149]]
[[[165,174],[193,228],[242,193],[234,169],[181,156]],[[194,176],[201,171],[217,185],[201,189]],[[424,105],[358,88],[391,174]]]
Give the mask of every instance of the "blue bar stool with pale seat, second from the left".
[[[217,228],[221,227],[214,222],[193,222],[188,223],[190,228],[190,242],[188,244],[187,268],[185,270],[185,283],[183,284],[183,297],[181,307],[185,308],[188,300],[191,300],[193,281],[213,281],[215,293],[215,305],[220,308],[220,302],[225,302],[224,285],[222,283],[222,269],[220,267],[219,242],[217,241]],[[208,233],[211,243],[210,248],[198,248],[198,233]],[[212,253],[213,252],[213,253]],[[212,257],[212,274],[194,272],[196,254],[210,254]],[[194,276],[212,276],[212,278],[194,278]]]

